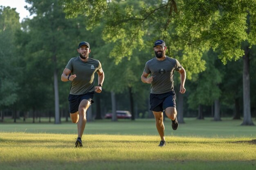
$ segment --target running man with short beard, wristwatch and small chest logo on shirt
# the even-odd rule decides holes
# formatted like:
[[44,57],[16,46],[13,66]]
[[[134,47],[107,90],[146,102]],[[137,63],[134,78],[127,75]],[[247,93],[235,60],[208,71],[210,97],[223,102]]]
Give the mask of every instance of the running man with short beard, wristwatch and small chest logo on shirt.
[[[104,81],[104,73],[99,60],[89,58],[91,52],[88,42],[80,42],[77,52],[78,57],[73,57],[67,63],[61,81],[71,81],[70,94],[70,118],[77,123],[78,137],[75,146],[82,147],[82,135],[86,124],[86,111],[94,103],[94,91],[101,93]],[[98,73],[98,85],[94,86],[94,73]]]

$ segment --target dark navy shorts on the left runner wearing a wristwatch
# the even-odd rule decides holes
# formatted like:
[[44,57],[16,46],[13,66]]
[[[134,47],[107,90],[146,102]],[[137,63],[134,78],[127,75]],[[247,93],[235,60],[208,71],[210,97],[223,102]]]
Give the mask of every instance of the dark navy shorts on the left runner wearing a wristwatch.
[[69,95],[68,96],[68,101],[70,102],[70,113],[76,113],[78,111],[79,108],[79,104],[83,99],[89,100],[89,102],[91,102],[91,104],[93,104],[93,98],[94,96],[94,91],[93,92],[89,92],[89,93],[85,93],[83,95]]

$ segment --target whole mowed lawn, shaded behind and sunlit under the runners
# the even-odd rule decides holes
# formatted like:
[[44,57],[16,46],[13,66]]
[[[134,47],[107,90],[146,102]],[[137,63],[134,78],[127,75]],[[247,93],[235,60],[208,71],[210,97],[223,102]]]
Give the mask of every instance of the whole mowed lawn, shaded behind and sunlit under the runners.
[[[0,170],[255,170],[256,126],[241,120],[166,119],[166,147],[154,119],[88,122],[83,148],[76,125],[0,124]],[[255,124],[255,121],[254,121]]]

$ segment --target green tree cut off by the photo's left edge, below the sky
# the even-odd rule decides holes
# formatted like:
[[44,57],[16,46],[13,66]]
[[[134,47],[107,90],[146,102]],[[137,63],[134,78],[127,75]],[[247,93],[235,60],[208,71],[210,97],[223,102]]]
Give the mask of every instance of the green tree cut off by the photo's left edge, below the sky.
[[0,110],[11,106],[17,99],[20,67],[15,45],[16,32],[21,28],[18,13],[10,7],[0,6]]

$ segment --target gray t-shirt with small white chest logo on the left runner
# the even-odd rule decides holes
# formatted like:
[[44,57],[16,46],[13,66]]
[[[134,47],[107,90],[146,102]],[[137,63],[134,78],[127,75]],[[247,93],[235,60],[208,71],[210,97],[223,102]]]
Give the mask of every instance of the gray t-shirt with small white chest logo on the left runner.
[[83,62],[80,57],[73,57],[66,68],[71,70],[72,75],[76,75],[71,82],[70,94],[82,95],[94,90],[94,73],[101,71],[99,60],[88,58],[87,62]]

